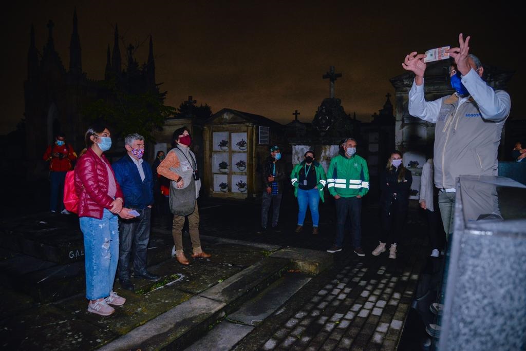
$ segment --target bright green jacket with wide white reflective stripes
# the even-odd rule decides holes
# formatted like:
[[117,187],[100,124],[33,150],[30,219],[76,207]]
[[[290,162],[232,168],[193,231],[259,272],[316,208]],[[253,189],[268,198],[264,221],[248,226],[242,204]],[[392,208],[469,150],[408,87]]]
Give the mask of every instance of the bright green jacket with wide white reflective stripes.
[[330,161],[327,170],[327,188],[332,196],[352,198],[369,192],[367,161],[358,155],[347,158],[338,154]]

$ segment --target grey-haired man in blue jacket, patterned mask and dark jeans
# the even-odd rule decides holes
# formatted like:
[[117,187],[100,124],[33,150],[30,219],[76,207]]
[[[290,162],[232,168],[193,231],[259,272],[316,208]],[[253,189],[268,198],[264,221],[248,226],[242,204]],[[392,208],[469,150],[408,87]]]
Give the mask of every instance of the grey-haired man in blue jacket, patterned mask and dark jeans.
[[150,214],[154,203],[154,181],[151,168],[143,160],[144,138],[137,133],[124,139],[128,154],[113,164],[115,177],[124,193],[126,207],[139,215],[119,222],[119,282],[126,290],[134,290],[130,280],[131,248],[135,247],[133,266],[135,278],[156,281],[159,276],[146,270],[146,250],[150,240]]

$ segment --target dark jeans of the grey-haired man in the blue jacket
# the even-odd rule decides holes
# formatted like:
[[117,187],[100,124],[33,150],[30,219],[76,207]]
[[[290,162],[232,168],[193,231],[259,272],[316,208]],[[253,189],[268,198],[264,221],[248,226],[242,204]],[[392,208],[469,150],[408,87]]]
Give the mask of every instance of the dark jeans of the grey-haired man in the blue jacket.
[[133,252],[133,269],[137,274],[146,273],[146,250],[150,240],[150,215],[151,209],[146,207],[138,209],[129,207],[139,212],[139,216],[123,220],[119,218],[119,279],[130,278],[131,249]]

